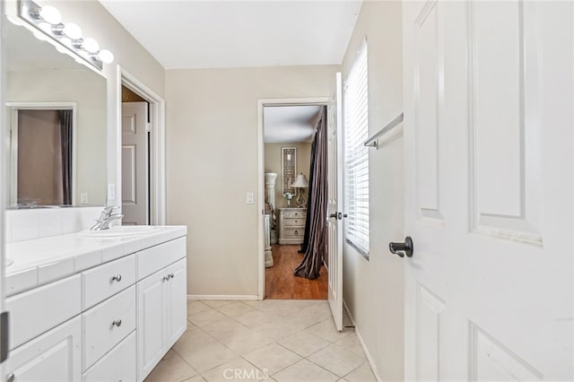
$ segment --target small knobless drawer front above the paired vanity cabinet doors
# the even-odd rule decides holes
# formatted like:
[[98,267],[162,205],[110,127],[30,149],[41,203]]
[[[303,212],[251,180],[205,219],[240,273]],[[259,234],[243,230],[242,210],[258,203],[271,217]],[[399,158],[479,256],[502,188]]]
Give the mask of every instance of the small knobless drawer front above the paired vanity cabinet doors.
[[179,238],[160,244],[159,246],[143,249],[137,254],[137,280],[173,264],[187,255],[186,238]]

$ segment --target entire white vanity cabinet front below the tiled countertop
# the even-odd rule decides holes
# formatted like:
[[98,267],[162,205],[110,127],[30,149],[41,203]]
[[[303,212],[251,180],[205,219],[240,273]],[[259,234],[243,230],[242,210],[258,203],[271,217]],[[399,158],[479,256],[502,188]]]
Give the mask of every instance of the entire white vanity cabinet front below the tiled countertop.
[[187,329],[185,257],[186,238],[167,239],[9,297],[2,377],[142,381]]

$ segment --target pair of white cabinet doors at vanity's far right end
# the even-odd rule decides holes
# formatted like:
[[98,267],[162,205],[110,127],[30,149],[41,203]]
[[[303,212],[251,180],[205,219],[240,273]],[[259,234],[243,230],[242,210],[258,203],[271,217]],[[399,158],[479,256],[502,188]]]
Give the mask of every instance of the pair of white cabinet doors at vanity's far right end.
[[185,258],[137,282],[137,379],[142,381],[187,329]]

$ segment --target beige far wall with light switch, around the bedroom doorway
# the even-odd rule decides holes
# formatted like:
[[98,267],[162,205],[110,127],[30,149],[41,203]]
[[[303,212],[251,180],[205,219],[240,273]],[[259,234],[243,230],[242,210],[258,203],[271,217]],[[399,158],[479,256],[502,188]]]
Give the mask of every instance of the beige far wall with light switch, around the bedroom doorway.
[[168,222],[188,227],[188,294],[257,296],[257,100],[326,97],[336,68],[167,71]]

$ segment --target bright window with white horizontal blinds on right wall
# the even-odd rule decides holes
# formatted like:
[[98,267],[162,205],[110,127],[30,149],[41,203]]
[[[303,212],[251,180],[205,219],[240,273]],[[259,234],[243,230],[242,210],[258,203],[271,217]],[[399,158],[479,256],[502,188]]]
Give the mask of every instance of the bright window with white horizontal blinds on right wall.
[[367,41],[344,88],[345,240],[369,258],[369,82]]

